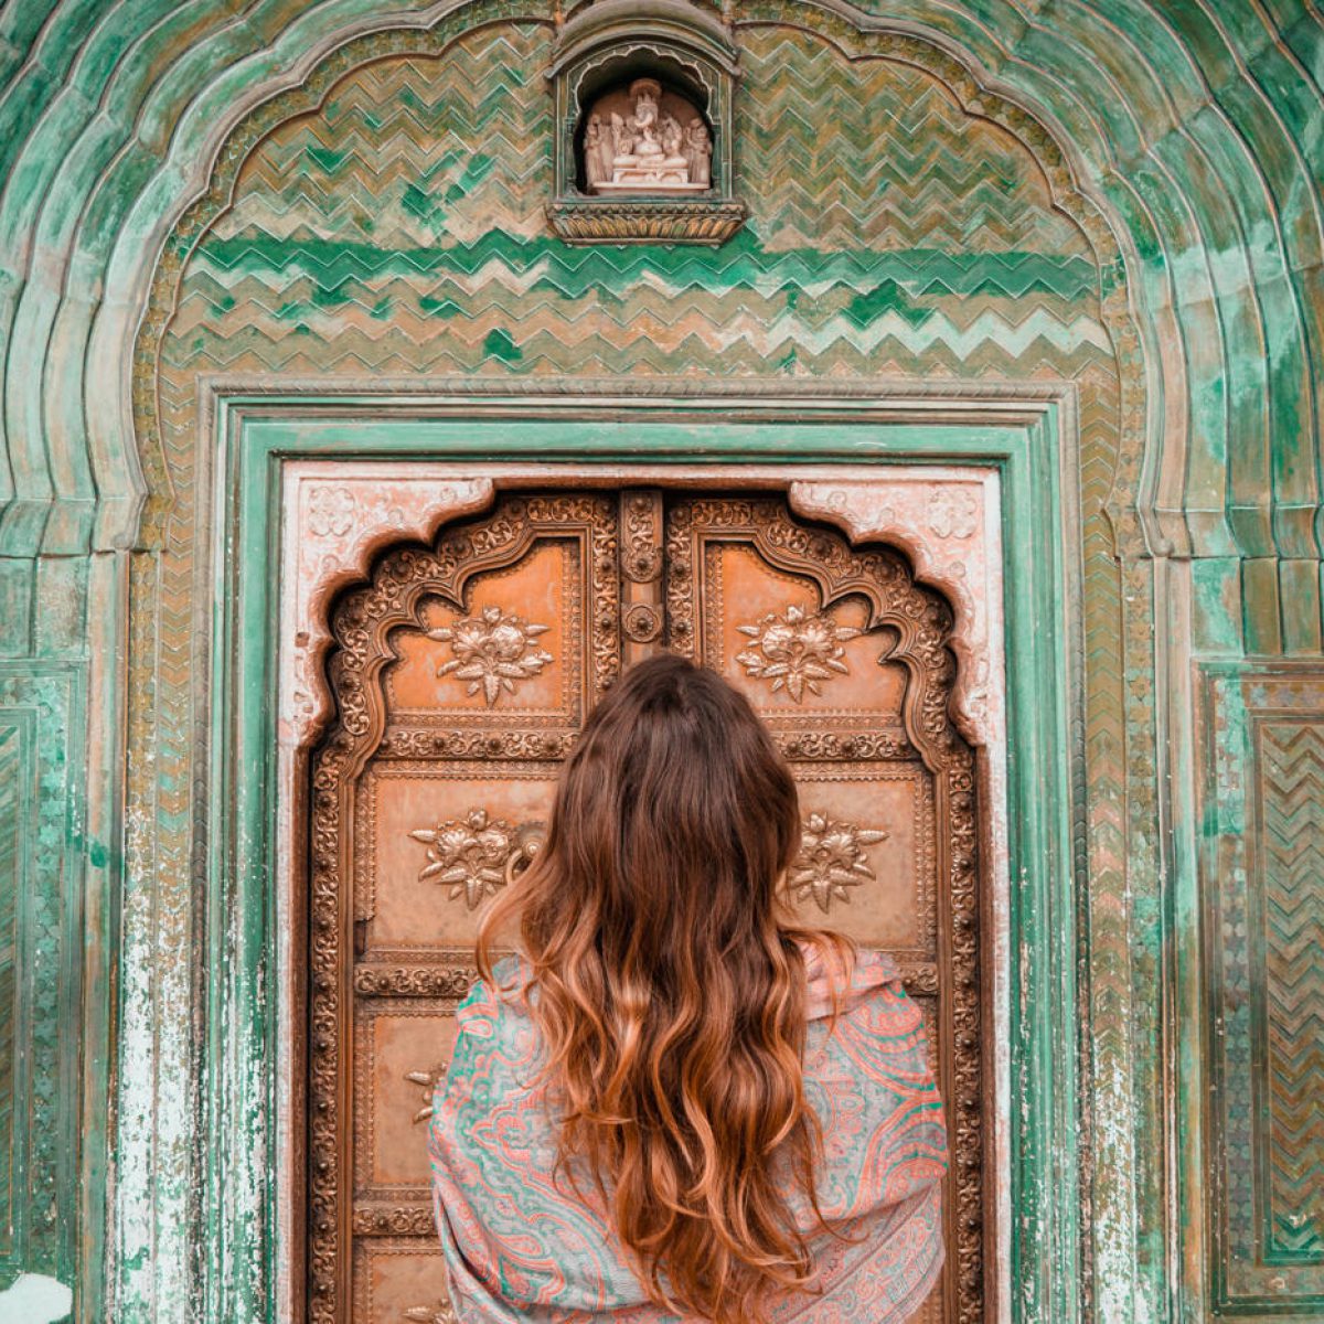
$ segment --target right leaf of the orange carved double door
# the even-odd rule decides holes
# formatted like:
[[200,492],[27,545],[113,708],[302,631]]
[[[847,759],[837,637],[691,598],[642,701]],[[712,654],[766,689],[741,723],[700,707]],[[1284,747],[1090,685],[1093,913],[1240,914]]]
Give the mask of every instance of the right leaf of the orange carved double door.
[[951,610],[906,559],[793,520],[777,498],[667,511],[671,645],[740,686],[796,773],[788,883],[900,963],[952,1129],[948,1266],[922,1319],[980,1317],[981,1038],[973,757],[948,716]]

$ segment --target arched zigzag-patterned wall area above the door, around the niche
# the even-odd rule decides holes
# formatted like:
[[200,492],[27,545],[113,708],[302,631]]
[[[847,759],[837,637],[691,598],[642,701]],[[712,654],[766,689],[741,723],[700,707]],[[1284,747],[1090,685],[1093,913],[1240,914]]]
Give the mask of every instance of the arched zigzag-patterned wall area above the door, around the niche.
[[931,74],[790,29],[745,37],[733,242],[561,245],[548,40],[383,60],[275,130],[187,269],[167,376],[1111,373],[1090,248],[1023,147]]

